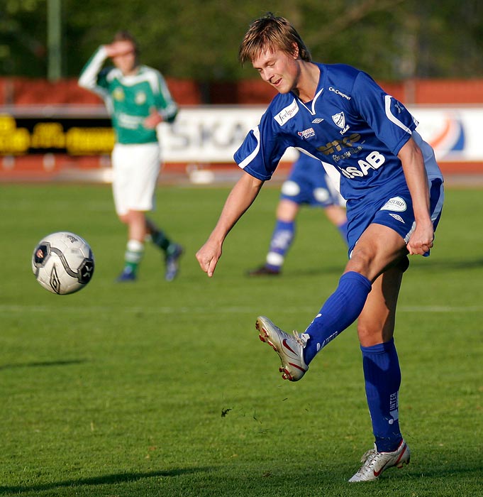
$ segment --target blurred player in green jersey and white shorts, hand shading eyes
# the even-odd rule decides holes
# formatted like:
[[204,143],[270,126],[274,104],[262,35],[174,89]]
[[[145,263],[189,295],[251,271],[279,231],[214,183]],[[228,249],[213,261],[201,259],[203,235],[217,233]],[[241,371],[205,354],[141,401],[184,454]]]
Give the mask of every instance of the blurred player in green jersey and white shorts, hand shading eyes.
[[[113,67],[105,67],[111,58]],[[139,62],[138,45],[127,31],[116,33],[113,43],[101,45],[82,69],[79,85],[99,94],[111,114],[116,145],[112,152],[113,197],[118,218],[128,226],[124,268],[118,282],[137,278],[145,239],[165,256],[165,279],[179,269],[183,249],[158,228],[146,212],[155,207],[160,173],[160,145],[156,127],[172,122],[177,104],[159,71]]]

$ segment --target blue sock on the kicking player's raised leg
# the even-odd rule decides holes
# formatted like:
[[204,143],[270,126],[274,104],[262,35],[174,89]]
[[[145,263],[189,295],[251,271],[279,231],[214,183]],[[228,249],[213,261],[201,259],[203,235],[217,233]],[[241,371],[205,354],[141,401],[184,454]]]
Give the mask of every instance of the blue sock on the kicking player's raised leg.
[[340,277],[337,289],[328,297],[321,312],[305,330],[305,333],[309,334],[304,349],[306,364],[309,364],[328,342],[357,320],[370,291],[370,280],[360,273],[349,271]]

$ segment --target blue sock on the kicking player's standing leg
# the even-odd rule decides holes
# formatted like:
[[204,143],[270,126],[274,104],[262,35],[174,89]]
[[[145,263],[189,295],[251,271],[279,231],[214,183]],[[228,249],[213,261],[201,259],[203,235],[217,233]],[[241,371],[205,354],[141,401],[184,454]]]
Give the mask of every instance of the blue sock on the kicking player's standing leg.
[[401,369],[394,339],[360,349],[377,451],[393,452],[402,439],[398,411]]

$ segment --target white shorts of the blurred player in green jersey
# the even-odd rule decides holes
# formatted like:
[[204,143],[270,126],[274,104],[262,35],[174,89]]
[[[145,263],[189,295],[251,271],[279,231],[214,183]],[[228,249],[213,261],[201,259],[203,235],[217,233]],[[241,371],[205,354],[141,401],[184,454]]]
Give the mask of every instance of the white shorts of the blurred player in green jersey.
[[160,146],[157,143],[123,145],[112,152],[114,205],[118,215],[155,208],[155,189],[160,173]]

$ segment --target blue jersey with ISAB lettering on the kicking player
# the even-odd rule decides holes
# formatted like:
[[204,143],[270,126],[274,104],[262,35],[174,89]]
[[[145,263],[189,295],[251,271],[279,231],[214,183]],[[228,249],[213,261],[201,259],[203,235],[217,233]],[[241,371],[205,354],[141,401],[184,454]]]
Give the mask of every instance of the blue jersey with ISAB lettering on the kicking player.
[[414,131],[418,123],[401,102],[354,67],[317,66],[313,100],[277,94],[235,152],[240,168],[270,180],[284,151],[299,148],[322,161],[350,208],[352,202],[374,202],[407,187],[397,154],[413,136],[428,178],[441,178],[431,146]]

